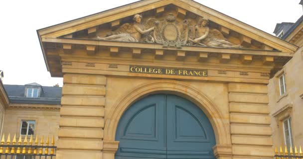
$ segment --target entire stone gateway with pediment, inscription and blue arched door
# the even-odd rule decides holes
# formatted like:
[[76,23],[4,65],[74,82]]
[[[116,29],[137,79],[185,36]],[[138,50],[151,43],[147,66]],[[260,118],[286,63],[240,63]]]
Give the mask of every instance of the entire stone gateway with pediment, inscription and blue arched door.
[[192,0],[142,0],[37,32],[64,83],[57,159],[273,157],[267,84],[296,45]]

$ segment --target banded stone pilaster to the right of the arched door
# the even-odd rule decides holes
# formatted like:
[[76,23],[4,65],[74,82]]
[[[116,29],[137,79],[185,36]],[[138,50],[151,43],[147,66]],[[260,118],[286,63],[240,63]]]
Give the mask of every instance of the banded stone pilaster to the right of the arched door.
[[272,159],[267,85],[229,83],[233,159]]

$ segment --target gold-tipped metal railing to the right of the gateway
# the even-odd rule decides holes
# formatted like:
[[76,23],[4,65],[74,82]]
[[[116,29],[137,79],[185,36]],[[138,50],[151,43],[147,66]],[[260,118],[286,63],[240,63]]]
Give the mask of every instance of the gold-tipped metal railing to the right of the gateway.
[[[295,152],[293,151],[293,149],[295,149]],[[288,151],[288,150],[290,150],[290,151]],[[288,149],[285,146],[285,149],[283,151],[282,146],[280,146],[280,152],[279,152],[278,148],[276,147],[275,159],[303,159],[302,148],[300,146],[299,152],[298,152],[297,146],[295,146],[295,148],[290,147],[290,149]]]

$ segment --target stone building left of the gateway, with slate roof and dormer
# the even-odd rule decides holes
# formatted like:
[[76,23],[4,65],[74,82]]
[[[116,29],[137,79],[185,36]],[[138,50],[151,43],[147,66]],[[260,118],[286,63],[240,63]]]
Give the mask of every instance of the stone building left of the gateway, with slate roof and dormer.
[[[2,85],[1,83],[1,134],[7,138],[15,134],[22,140],[27,135],[35,140],[38,135],[58,139],[61,87]],[[3,104],[2,104],[3,103]],[[6,140],[6,139],[5,139]]]

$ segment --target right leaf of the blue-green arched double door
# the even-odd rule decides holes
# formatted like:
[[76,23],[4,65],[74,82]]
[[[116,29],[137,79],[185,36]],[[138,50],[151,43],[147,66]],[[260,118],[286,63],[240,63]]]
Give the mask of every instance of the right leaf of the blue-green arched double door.
[[214,159],[215,136],[204,112],[178,96],[166,98],[167,159]]

